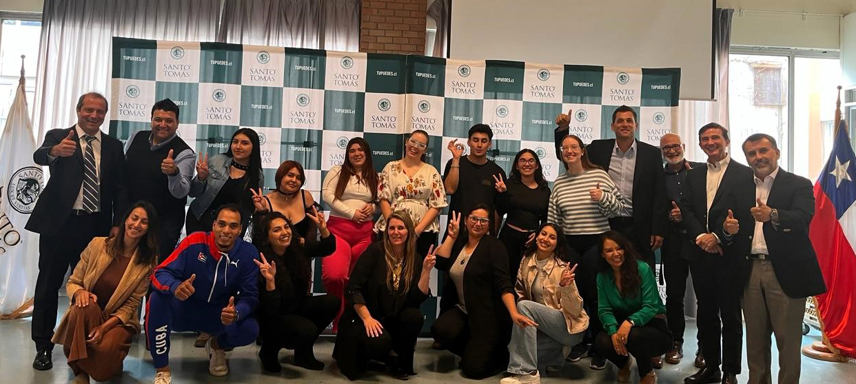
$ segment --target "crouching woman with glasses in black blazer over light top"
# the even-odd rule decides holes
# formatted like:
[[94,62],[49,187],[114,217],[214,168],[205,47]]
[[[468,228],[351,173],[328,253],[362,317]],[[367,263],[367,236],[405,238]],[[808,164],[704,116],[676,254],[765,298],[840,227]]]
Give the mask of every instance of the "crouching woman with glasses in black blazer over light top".
[[448,271],[452,283],[443,290],[443,306],[448,308],[443,308],[431,334],[461,357],[461,371],[471,379],[484,379],[508,366],[512,321],[520,327],[535,324],[517,313],[505,246],[485,236],[489,215],[484,204],[473,207],[464,216],[466,230],[458,236],[461,214],[453,211],[446,239],[436,251],[437,269]]

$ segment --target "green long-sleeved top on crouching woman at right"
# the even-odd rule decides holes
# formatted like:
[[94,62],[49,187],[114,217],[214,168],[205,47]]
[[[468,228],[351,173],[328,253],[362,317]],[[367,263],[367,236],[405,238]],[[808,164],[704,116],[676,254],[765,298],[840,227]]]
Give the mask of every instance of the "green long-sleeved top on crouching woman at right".
[[657,279],[651,267],[644,261],[636,261],[639,266],[639,294],[633,297],[622,297],[615,285],[615,275],[597,273],[597,316],[603,323],[603,330],[608,334],[618,331],[621,325],[618,319],[632,320],[636,326],[644,326],[655,315],[666,313],[666,307],[660,301],[657,291]]

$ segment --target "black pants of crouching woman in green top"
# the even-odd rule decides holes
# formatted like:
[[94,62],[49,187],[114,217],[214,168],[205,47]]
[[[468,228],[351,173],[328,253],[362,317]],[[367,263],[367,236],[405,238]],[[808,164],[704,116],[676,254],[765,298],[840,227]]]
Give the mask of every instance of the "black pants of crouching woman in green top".
[[[618,321],[619,324],[624,319]],[[657,317],[648,321],[641,327],[633,327],[627,335],[627,353],[636,357],[636,365],[639,368],[639,377],[644,377],[651,372],[651,357],[663,355],[672,347],[672,335],[666,321]],[[621,368],[627,363],[627,356],[621,356],[612,345],[612,337],[605,332],[597,333],[595,350],[600,356],[606,357],[610,362]],[[707,356],[705,356],[706,358]]]

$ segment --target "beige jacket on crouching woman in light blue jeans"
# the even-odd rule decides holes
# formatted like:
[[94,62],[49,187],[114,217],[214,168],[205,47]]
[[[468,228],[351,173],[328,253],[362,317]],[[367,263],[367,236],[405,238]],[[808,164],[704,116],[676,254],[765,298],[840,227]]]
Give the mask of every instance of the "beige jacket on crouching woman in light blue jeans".
[[[583,309],[583,298],[580,297],[580,291],[577,291],[576,282],[559,286],[559,282],[562,281],[562,271],[569,267],[568,262],[551,257],[544,267],[547,278],[542,279],[541,283],[546,302],[544,305],[561,310],[568,324],[568,333],[573,334],[586,330],[588,315],[586,315],[586,309]],[[517,283],[514,285],[518,300],[532,300],[532,281],[535,280],[536,273],[538,273],[538,265],[535,263],[535,256],[523,257],[520,268],[517,270]]]

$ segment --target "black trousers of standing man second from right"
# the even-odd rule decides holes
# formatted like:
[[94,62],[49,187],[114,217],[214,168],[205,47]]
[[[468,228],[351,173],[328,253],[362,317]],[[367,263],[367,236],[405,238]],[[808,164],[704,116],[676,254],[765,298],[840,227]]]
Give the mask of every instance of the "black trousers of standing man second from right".
[[703,257],[690,262],[690,273],[698,300],[698,341],[704,361],[710,368],[722,363],[722,371],[740,375],[743,353],[740,267],[719,256]]

